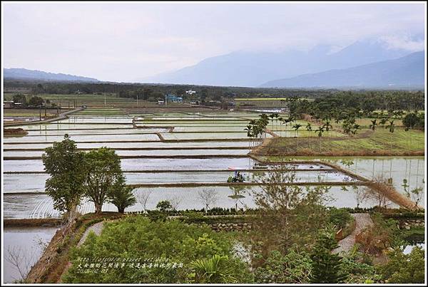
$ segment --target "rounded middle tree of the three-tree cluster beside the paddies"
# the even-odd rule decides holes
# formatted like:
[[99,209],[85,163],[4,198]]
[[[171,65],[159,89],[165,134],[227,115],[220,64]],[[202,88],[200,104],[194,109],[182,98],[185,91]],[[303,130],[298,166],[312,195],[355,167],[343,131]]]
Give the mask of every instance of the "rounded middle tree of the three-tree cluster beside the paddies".
[[101,213],[108,193],[123,178],[121,160],[114,150],[101,147],[85,155],[85,195],[95,204],[95,212]]

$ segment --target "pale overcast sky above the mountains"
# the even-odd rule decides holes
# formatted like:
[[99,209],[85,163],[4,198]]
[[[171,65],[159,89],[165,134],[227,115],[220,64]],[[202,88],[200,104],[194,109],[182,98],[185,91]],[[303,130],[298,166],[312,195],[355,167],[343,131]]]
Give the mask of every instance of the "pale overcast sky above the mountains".
[[[424,48],[424,4],[2,2],[4,68],[133,81],[238,50]],[[419,38],[414,38],[415,36]]]

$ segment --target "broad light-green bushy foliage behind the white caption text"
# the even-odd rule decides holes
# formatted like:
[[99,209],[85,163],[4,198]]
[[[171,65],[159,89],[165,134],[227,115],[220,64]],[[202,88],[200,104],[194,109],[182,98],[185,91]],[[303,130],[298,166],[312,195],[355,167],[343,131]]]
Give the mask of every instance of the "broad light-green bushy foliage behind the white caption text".
[[[235,239],[230,234],[215,232],[209,226],[186,224],[178,220],[150,221],[146,216],[129,216],[106,222],[100,236],[93,233],[71,253],[71,268],[62,277],[64,283],[194,283],[193,262],[210,261],[221,256],[218,268],[211,281],[225,283],[251,283],[253,281],[248,263],[235,256]],[[85,268],[80,260],[114,258],[116,267]],[[151,266],[150,263],[165,263],[169,266]],[[98,261],[99,262],[99,261]],[[121,263],[125,262],[124,266]],[[96,262],[94,262],[96,263]],[[143,263],[145,268],[141,268]],[[136,266],[136,264],[139,264]],[[175,267],[171,265],[174,264]],[[80,265],[80,266],[79,266]],[[203,269],[198,269],[203,270]],[[227,272],[227,276],[225,271]],[[190,274],[195,273],[194,276]],[[203,275],[198,272],[198,276]],[[209,275],[209,274],[207,274]],[[223,276],[222,276],[223,275]],[[206,276],[201,278],[204,280]]]

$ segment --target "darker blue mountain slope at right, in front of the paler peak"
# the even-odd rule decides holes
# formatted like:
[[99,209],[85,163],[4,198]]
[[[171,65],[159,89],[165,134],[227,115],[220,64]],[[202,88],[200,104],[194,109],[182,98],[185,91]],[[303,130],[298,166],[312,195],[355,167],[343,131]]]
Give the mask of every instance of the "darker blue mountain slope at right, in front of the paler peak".
[[271,80],[270,88],[423,88],[424,52],[347,69]]

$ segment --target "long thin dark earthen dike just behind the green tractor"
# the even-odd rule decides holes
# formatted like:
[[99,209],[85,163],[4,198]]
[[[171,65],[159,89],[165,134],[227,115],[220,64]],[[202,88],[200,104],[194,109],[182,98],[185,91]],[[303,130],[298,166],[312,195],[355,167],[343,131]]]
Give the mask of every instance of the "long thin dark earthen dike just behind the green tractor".
[[[123,173],[170,173],[170,172],[331,172],[336,169],[331,168],[313,168],[313,169],[153,169],[153,170],[126,170]],[[3,172],[4,174],[46,174],[47,172]]]

